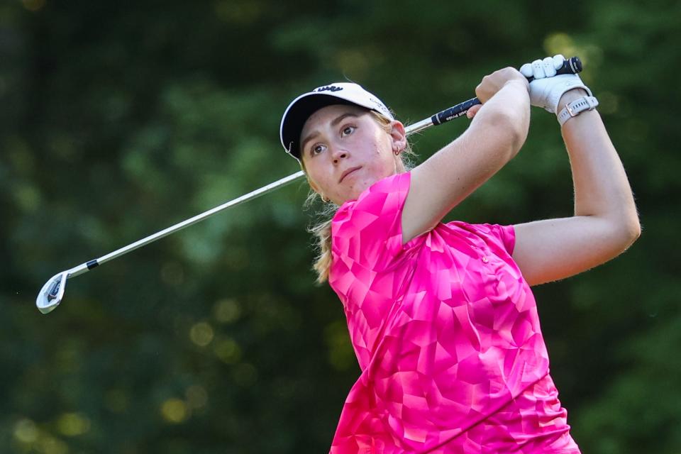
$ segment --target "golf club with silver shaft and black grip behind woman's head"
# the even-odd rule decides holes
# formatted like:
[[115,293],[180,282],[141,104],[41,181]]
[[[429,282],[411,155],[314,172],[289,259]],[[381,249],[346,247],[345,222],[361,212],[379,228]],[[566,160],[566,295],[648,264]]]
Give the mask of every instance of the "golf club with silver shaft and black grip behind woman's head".
[[[577,74],[578,72],[581,71],[582,62],[580,61],[580,59],[578,57],[571,57],[565,60],[565,62],[563,62],[563,67],[558,69],[556,73]],[[533,79],[532,77],[529,77],[528,81],[531,82],[532,79]],[[481,104],[480,100],[477,98],[472,98],[469,99],[468,101],[456,104],[455,106],[452,106],[449,109],[445,109],[441,112],[438,112],[438,114],[435,114],[430,118],[426,118],[417,123],[414,123],[413,125],[407,126],[405,128],[406,134],[411,135],[419,131],[423,131],[423,129],[429,128],[431,126],[439,126],[443,123],[452,120],[453,118],[463,116],[466,114],[468,109],[477,104]],[[168,236],[171,233],[175,233],[177,231],[182,230],[183,228],[192,226],[193,224],[203,221],[204,219],[209,218],[214,214],[218,214],[219,212],[225,209],[231,208],[232,206],[236,206],[238,204],[242,204],[245,201],[253,200],[259,196],[272,192],[275,189],[279,189],[280,187],[284,187],[287,184],[290,184],[296,181],[297,179],[304,177],[304,175],[305,175],[304,172],[301,170],[292,175],[289,175],[288,177],[278,179],[277,181],[267,184],[266,186],[261,187],[260,189],[255,189],[255,191],[249,192],[248,194],[244,194],[243,196],[237,197],[236,199],[228,201],[222,205],[216,206],[214,209],[210,209],[208,211],[204,211],[204,213],[197,214],[196,216],[189,218],[186,221],[182,221],[180,223],[175,224],[174,226],[165,228],[162,231],[154,233],[153,235],[150,235],[146,238],[142,238],[141,240],[135,241],[135,243],[131,243],[130,245],[124,246],[123,248],[114,250],[114,252],[103,255],[100,258],[96,258],[94,260],[90,260],[89,262],[82,263],[81,265],[70,268],[69,270],[58,272],[56,275],[52,276],[48,280],[48,282],[45,282],[43,288],[40,289],[38,297],[35,299],[35,305],[38,306],[38,310],[40,312],[42,312],[43,314],[48,314],[62,302],[62,298],[64,297],[64,290],[66,287],[66,281],[70,277],[82,275],[88,272],[89,270],[92,270],[92,268],[94,267],[109,262],[109,260],[114,260],[115,258],[121,257],[121,255],[125,255],[131,252],[132,250],[141,248],[142,246],[148,245],[149,243],[153,243],[155,240],[159,240],[160,238]]]

